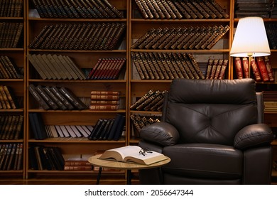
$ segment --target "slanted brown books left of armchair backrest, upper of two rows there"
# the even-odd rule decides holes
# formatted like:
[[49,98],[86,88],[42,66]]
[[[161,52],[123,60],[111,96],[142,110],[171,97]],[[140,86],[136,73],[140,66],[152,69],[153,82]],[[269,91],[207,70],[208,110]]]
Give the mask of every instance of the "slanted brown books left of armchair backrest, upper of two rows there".
[[131,110],[161,111],[163,108],[163,99],[167,90],[148,90],[146,94],[140,97],[134,104],[131,104]]

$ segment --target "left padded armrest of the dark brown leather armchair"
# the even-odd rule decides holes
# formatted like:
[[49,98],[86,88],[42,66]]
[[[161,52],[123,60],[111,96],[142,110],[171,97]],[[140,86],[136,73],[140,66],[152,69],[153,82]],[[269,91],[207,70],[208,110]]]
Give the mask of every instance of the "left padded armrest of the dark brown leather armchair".
[[178,142],[178,130],[166,122],[156,122],[143,127],[140,131],[141,139],[150,141],[162,146],[174,145]]

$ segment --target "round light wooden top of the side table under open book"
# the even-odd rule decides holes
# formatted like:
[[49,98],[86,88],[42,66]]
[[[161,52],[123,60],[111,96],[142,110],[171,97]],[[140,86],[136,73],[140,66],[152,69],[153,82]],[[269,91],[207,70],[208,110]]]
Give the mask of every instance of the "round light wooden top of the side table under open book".
[[100,166],[104,168],[119,168],[119,169],[146,169],[146,168],[156,168],[160,166],[164,166],[165,164],[170,162],[170,158],[159,161],[157,163],[152,163],[150,165],[143,165],[139,163],[124,163],[119,161],[109,161],[109,160],[102,160],[99,159],[99,156],[101,154],[96,156],[91,156],[88,158],[89,163],[91,163],[94,166]]

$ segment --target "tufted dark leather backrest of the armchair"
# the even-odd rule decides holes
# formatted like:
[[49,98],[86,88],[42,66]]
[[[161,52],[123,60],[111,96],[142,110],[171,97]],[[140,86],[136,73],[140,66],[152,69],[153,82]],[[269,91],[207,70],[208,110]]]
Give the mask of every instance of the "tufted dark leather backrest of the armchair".
[[257,123],[256,85],[252,79],[175,79],[164,102],[163,119],[183,143],[233,145],[237,132]]

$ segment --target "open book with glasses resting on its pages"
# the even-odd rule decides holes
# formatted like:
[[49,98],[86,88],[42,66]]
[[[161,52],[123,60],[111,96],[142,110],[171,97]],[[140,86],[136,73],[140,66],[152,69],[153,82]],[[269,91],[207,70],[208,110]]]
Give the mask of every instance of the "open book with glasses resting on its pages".
[[167,156],[160,154],[156,151],[144,151],[141,153],[139,146],[123,146],[116,149],[109,149],[104,151],[99,159],[106,159],[112,161],[121,161],[126,163],[139,163],[150,165],[159,161],[168,159]]

